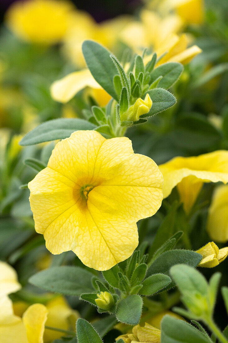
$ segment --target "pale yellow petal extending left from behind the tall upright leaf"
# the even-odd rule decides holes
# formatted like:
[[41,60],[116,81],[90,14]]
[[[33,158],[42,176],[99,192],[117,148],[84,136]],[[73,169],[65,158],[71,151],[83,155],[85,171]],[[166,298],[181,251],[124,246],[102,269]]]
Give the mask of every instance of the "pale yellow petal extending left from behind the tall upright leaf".
[[51,96],[60,103],[66,103],[85,87],[101,88],[97,81],[94,80],[89,69],[75,71],[55,81],[51,85]]

